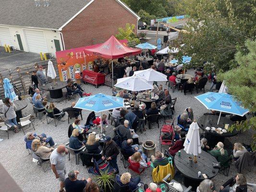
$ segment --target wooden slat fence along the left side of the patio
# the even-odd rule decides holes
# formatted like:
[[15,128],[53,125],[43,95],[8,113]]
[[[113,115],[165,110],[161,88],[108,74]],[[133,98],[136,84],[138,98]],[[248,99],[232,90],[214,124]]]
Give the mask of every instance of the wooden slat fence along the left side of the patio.
[[[51,61],[57,74],[56,80],[60,80],[56,59],[52,59]],[[31,74],[33,71],[37,71],[40,65],[42,65],[47,72],[48,60],[0,71],[0,98],[3,99],[5,97],[2,83],[5,78],[8,78],[11,83],[16,86],[21,92],[21,95],[26,95],[28,93],[28,87],[32,84]],[[51,81],[52,79],[48,78],[48,82]]]

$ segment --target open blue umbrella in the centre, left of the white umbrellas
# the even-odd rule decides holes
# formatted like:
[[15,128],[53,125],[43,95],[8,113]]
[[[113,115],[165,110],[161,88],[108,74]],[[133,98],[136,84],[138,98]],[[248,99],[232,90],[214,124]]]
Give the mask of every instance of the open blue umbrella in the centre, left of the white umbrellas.
[[[122,108],[124,107],[123,98],[116,97],[116,96],[108,96],[102,93],[93,95],[93,96],[86,96],[80,98],[74,108],[81,108],[85,110],[95,111],[95,112],[102,112],[114,108]],[[101,117],[101,113],[100,113]],[[101,126],[102,128],[102,126]],[[102,132],[102,129],[101,129]]]

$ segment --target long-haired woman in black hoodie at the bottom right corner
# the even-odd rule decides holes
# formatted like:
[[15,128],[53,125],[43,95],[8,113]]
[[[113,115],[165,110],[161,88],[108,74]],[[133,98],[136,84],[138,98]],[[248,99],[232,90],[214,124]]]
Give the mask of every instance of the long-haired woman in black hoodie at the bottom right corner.
[[246,178],[243,174],[238,173],[220,186],[219,192],[247,192]]

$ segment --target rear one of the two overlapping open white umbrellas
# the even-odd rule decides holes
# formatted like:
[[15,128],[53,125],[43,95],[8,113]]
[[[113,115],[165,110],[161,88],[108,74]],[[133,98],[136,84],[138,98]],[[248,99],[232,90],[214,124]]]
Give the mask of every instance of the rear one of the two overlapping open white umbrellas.
[[161,72],[157,72],[153,69],[146,69],[146,70],[136,71],[136,72],[134,72],[134,74],[137,77],[143,78],[148,82],[167,81],[167,75],[165,75]]

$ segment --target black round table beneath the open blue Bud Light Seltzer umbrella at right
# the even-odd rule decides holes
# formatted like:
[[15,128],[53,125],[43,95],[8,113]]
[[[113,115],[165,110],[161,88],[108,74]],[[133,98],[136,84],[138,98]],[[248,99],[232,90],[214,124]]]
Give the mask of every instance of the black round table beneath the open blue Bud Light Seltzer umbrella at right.
[[218,142],[224,143],[225,137],[233,137],[238,134],[237,130],[233,130],[232,132],[223,132],[222,134],[219,134],[212,129],[207,131],[207,127],[225,129],[225,124],[229,124],[231,126],[233,123],[235,123],[227,117],[220,117],[219,125],[217,125],[218,119],[219,115],[203,115],[197,120],[197,124],[199,125],[200,129],[206,132],[206,138],[210,147],[215,147]]

